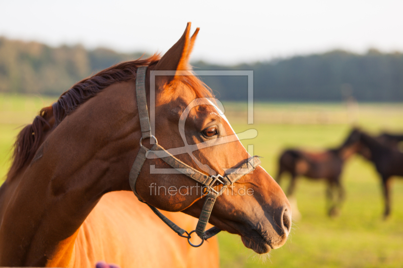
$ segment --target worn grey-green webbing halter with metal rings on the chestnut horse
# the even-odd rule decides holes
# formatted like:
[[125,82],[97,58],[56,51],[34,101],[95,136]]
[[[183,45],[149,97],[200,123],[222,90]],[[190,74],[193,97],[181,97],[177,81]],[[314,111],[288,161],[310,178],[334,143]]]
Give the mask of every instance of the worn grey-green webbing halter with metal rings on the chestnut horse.
[[[227,186],[232,185],[236,181],[238,181],[243,175],[250,173],[253,171],[257,165],[260,164],[260,160],[258,156],[253,156],[246,159],[241,165],[236,168],[231,168],[232,172],[222,176],[220,174],[209,176],[205,173],[198,171],[197,169],[185,164],[180,161],[178,158],[170,154],[167,150],[165,150],[161,145],[158,144],[157,138],[151,135],[151,127],[150,127],[150,118],[148,115],[147,109],[147,98],[146,98],[146,70],[147,66],[140,66],[137,69],[137,77],[136,77],[136,98],[137,98],[137,107],[139,109],[139,118],[140,118],[140,126],[142,130],[142,137],[140,138],[140,150],[137,153],[136,160],[131,166],[130,174],[129,174],[129,183],[131,190],[136,195],[136,197],[143,203],[147,204],[151,210],[163,221],[165,222],[173,231],[175,231],[179,236],[187,238],[189,244],[193,247],[198,247],[203,244],[203,242],[214,235],[218,234],[221,230],[217,227],[212,227],[209,230],[206,230],[206,225],[209,222],[209,218],[211,212],[213,210],[214,203],[218,196],[220,196]],[[153,138],[155,140],[155,144],[151,149],[148,149],[143,146],[142,142],[144,139]],[[167,217],[165,217],[157,208],[151,206],[146,201],[144,201],[136,191],[136,181],[140,174],[140,170],[144,162],[146,161],[146,155],[149,153],[155,152],[164,160],[168,165],[175,168],[176,170],[182,172],[186,176],[192,178],[194,181],[204,185],[208,190],[208,194],[206,197],[206,201],[201,209],[201,214],[198,219],[196,229],[188,233],[186,230],[183,230],[178,225],[173,223]],[[162,155],[161,155],[162,154]],[[246,171],[246,172],[245,172]],[[214,185],[216,183],[220,183],[223,187],[220,191],[216,191],[214,189]],[[203,197],[202,197],[203,198]],[[191,234],[195,232],[198,237],[201,238],[201,243],[198,245],[194,245],[190,242]]]

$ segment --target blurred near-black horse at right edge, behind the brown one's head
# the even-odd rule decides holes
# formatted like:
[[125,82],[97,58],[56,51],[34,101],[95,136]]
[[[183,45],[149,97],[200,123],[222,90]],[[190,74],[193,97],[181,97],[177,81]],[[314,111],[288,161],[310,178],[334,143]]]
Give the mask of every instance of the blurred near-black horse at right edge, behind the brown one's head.
[[385,201],[383,216],[390,215],[390,184],[392,176],[403,176],[403,153],[391,147],[390,143],[361,132],[359,153],[371,161],[381,177],[382,193]]

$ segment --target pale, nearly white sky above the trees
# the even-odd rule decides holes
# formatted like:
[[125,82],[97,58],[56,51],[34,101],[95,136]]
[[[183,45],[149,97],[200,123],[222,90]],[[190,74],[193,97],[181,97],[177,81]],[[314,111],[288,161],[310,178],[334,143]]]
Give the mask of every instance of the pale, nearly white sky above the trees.
[[267,61],[345,49],[403,51],[403,1],[6,1],[0,36],[51,46],[166,52],[187,22],[192,60]]

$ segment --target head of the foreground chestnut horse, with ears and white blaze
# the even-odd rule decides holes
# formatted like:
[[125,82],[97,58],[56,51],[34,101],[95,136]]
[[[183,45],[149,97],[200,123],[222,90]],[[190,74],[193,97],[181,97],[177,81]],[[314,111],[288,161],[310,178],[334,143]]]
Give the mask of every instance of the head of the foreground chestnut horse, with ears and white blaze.
[[[225,176],[251,156],[223,115],[220,103],[191,72],[188,60],[198,28],[191,37],[189,32],[190,23],[179,41],[148,67],[152,133],[158,144],[180,161],[208,176]],[[146,143],[155,142],[147,139],[143,144],[150,148]],[[172,174],[173,168],[161,158],[148,158],[136,184],[141,199],[159,209],[198,218],[206,189],[186,174]],[[217,191],[223,187],[219,183],[214,186]],[[218,196],[209,222],[239,234],[244,245],[255,252],[266,253],[287,240],[291,208],[279,185],[257,166]]]

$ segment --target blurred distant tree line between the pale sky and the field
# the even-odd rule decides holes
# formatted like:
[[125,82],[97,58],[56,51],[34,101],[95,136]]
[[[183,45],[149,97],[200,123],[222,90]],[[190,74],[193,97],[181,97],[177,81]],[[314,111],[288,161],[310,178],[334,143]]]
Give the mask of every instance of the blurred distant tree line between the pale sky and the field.
[[[49,47],[0,38],[0,92],[59,95],[74,83],[142,53],[81,45]],[[259,101],[403,101],[403,54],[334,50],[236,66],[193,62],[195,70],[253,70]],[[247,76],[203,76],[220,100],[246,100]]]

